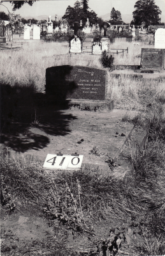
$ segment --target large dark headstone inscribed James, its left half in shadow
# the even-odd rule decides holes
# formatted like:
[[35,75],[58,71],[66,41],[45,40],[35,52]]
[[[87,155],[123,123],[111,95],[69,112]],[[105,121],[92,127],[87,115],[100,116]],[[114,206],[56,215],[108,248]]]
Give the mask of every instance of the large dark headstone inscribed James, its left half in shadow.
[[107,73],[96,68],[69,65],[47,68],[46,90],[58,100],[106,99]]

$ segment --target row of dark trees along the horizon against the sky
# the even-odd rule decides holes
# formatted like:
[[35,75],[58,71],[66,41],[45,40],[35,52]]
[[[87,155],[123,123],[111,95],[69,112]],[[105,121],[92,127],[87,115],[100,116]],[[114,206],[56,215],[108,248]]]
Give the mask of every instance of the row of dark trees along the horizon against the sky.
[[[74,6],[68,6],[66,8],[66,12],[62,16],[62,19],[68,20],[69,25],[73,25],[75,21],[80,22],[82,20],[83,26],[85,26],[85,23],[87,21],[87,18],[89,19],[90,24],[99,24],[100,27],[103,27],[104,20],[97,17],[97,14],[90,10],[89,0],[81,0],[76,1]],[[5,1],[0,1],[0,4],[3,4]],[[32,4],[36,1],[10,1],[10,3],[13,6],[13,11],[21,8],[25,3],[32,6]],[[159,15],[161,15],[161,10],[159,9],[159,6],[155,4],[154,0],[138,0],[134,4],[134,12],[133,12],[133,20],[131,21],[131,24],[134,24],[136,26],[141,26],[141,24],[145,24],[146,27],[150,25],[158,25],[161,24],[161,18]],[[1,20],[9,20],[8,15],[4,12],[0,12],[0,19]],[[25,20],[24,18],[20,19],[24,24],[29,23],[30,20]],[[40,22],[47,22],[47,20],[40,20]],[[39,22],[39,23],[40,23]],[[59,22],[56,20],[53,21],[54,26],[59,25]],[[111,24],[124,24],[122,21],[122,15],[118,10],[115,10],[113,7],[110,13],[110,20],[109,22]],[[38,20],[31,19],[31,24],[37,24]],[[163,23],[162,23],[163,24]]]

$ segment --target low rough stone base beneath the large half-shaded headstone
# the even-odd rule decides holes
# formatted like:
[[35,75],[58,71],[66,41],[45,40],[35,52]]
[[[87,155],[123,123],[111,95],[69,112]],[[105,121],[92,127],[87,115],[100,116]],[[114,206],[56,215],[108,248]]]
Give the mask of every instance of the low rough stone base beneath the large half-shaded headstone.
[[68,106],[70,109],[80,109],[83,111],[100,111],[108,112],[113,110],[113,100],[78,100],[68,99]]

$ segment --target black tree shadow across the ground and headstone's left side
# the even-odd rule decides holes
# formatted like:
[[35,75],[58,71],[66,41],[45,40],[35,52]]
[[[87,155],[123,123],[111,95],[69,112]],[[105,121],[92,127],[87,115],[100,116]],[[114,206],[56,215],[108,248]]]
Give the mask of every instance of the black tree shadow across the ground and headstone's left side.
[[0,84],[3,148],[10,147],[17,152],[39,150],[50,143],[47,134],[65,136],[71,132],[69,122],[76,117],[62,111],[68,109],[67,93],[76,88],[74,82],[68,84],[65,79],[70,71],[71,67],[67,66],[62,71],[61,81],[52,84],[58,87],[58,92],[47,90],[46,86],[46,93],[36,93],[33,84],[24,87],[20,84],[12,87],[10,84]]

